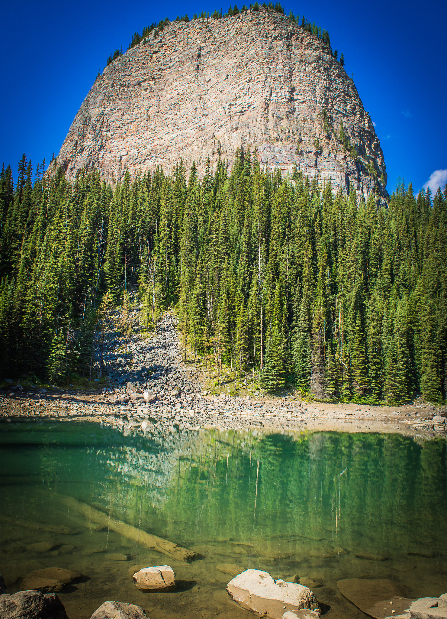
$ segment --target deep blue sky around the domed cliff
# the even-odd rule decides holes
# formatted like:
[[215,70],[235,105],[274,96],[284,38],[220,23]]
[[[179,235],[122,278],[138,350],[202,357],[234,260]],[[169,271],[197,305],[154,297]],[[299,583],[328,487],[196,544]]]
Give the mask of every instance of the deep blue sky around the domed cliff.
[[[415,190],[430,176],[432,186],[445,183],[447,3],[322,0],[283,6],[287,14],[305,15],[328,30],[333,50],[344,53],[385,154],[388,191],[399,178]],[[4,4],[0,165],[11,163],[15,173],[23,152],[33,163],[57,155],[98,68],[117,48],[127,50],[132,33],[166,16],[221,8],[228,11],[208,0]]]

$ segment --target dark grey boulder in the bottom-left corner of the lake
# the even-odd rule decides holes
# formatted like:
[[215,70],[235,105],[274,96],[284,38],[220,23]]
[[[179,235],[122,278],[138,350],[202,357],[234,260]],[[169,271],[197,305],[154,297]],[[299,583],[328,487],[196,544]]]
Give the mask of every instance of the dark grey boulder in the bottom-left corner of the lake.
[[69,619],[59,597],[40,591],[0,595],[2,619]]

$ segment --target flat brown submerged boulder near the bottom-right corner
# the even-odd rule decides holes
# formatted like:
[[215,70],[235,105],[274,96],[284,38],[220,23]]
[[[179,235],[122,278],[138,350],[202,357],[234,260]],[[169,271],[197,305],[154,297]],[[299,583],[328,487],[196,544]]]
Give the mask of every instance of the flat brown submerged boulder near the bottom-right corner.
[[385,578],[345,578],[337,581],[337,586],[349,602],[376,619],[390,615],[390,606],[396,613],[401,613],[411,604],[405,587]]

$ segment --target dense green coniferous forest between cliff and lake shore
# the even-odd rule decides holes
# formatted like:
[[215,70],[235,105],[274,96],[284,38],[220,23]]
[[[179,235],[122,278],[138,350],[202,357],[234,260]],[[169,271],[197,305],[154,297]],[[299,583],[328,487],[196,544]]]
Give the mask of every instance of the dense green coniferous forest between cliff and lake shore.
[[[185,360],[275,392],[399,403],[447,389],[447,190],[403,183],[387,208],[282,178],[237,152],[114,188],[25,155],[0,175],[6,376],[92,377],[101,326],[138,290],[145,327],[175,306]],[[124,297],[123,297],[124,295]]]

